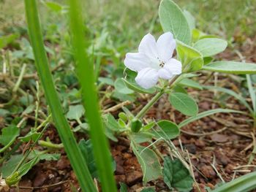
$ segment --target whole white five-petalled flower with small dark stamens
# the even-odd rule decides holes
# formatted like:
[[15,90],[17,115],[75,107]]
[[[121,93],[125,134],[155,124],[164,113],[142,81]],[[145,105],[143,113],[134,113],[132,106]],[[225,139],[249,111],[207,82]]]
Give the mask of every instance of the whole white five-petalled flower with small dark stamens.
[[124,65],[138,72],[135,78],[138,85],[151,88],[159,78],[170,80],[175,74],[181,74],[181,62],[172,58],[176,48],[173,34],[167,32],[159,39],[146,34],[140,42],[138,53],[127,53]]

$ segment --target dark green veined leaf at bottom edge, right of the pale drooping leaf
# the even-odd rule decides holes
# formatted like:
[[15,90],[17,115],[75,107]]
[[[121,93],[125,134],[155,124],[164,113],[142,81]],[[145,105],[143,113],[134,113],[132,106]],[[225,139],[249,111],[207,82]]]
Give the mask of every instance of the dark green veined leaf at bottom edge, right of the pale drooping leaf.
[[176,188],[178,191],[190,191],[193,186],[193,179],[187,168],[176,158],[171,160],[165,157],[163,176],[168,188]]

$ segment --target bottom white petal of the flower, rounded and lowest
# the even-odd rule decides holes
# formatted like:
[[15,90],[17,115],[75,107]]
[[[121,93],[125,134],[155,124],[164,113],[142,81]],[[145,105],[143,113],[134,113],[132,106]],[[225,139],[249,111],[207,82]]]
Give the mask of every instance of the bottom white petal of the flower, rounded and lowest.
[[150,67],[142,69],[140,72],[138,72],[135,81],[142,88],[152,88],[154,85],[157,84],[158,81],[157,70]]

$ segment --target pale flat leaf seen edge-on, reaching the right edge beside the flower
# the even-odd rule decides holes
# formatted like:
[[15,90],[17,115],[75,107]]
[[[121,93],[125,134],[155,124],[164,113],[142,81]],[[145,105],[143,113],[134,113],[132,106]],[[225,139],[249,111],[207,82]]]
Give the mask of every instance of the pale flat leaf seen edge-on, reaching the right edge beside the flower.
[[203,66],[202,70],[230,74],[256,74],[256,64],[235,61],[216,61]]

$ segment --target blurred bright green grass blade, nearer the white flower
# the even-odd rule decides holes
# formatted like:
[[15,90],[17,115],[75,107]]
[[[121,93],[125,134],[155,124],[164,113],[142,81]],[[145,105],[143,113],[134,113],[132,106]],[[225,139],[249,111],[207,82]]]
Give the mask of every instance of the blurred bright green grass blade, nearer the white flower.
[[82,9],[79,0],[69,0],[70,28],[72,44],[77,61],[76,71],[82,88],[83,105],[86,108],[86,118],[90,124],[90,137],[94,150],[94,157],[102,184],[102,191],[115,192],[116,182],[113,177],[110,150],[102,119],[99,113],[97,88],[94,85],[94,65],[86,53],[88,43],[85,39],[85,26],[83,24]]

